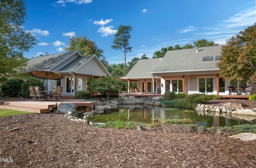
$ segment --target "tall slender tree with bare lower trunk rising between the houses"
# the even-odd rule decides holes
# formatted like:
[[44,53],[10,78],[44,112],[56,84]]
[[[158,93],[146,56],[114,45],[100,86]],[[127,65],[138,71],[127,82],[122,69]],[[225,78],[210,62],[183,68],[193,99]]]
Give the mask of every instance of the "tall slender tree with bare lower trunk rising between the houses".
[[119,28],[117,29],[117,32],[115,34],[114,38],[114,45],[111,45],[112,49],[115,50],[120,50],[124,53],[124,65],[126,67],[126,53],[132,51],[132,47],[129,46],[129,39],[131,38],[130,36],[130,31],[132,31],[132,26],[122,26],[120,25]]

